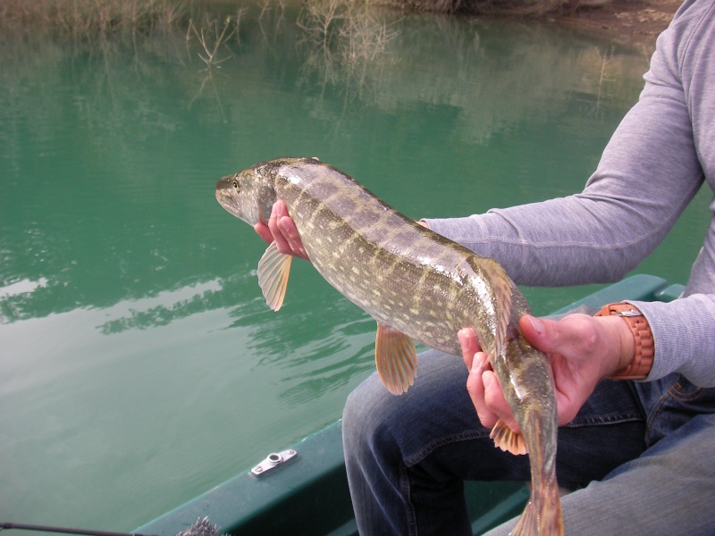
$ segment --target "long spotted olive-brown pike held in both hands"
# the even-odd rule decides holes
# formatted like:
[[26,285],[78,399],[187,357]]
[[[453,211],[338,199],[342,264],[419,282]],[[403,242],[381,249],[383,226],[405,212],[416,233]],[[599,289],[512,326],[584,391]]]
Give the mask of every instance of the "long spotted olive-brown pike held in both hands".
[[[459,356],[457,333],[472,328],[521,429],[500,420],[490,437],[502,450],[529,455],[530,497],[511,534],[563,534],[551,366],[519,329],[530,309],[501,264],[400,214],[317,158],[257,163],[218,180],[215,197],[251,226],[267,223],[282,199],[315,269],[377,322],[375,365],[393,395],[414,384],[415,340]],[[258,263],[258,284],[274,311],[292,258],[273,242]]]

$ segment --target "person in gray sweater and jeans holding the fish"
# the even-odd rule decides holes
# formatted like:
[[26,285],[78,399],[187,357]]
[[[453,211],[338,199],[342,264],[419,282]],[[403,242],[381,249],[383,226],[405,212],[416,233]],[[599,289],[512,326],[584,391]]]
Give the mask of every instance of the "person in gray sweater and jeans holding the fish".
[[[660,244],[703,181],[715,189],[715,0],[680,7],[644,80],[581,193],[425,224],[493,257],[517,284],[618,281]],[[306,258],[282,203],[256,230]],[[637,326],[622,308],[520,322],[551,358],[557,474],[571,490],[565,531],[713,534],[715,223],[682,297],[629,304]],[[343,440],[361,534],[470,534],[464,480],[529,480],[526,456],[489,439],[498,418],[516,424],[474,334],[459,339],[467,368],[427,351],[402,397],[376,374],[349,396]],[[622,381],[603,381],[613,376]]]

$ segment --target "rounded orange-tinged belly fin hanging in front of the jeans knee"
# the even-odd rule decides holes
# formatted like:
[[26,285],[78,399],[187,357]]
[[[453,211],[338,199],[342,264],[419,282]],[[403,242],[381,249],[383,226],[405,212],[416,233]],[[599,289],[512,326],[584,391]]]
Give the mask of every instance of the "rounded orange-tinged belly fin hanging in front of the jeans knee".
[[393,395],[401,395],[415,382],[415,343],[404,333],[379,322],[374,343],[374,361],[380,380]]

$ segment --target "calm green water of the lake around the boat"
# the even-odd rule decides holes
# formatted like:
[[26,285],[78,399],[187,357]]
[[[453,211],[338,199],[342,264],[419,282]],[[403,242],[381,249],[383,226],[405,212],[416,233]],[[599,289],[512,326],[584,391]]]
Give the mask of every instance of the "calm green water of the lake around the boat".
[[[651,52],[388,14],[399,35],[350,63],[258,11],[210,72],[186,29],[0,38],[0,521],[130,530],[331,423],[373,370],[373,322],[307,263],[267,309],[219,177],[318,156],[415,218],[567,195]],[[706,203],[639,271],[686,281]],[[539,313],[584,292],[526,289]]]

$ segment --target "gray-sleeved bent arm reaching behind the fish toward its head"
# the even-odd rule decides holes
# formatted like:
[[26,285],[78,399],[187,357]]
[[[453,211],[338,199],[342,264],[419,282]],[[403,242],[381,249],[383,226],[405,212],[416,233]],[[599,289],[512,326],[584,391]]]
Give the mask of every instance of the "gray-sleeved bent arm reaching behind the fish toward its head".
[[428,220],[430,228],[495,258],[518,284],[609,282],[632,270],[703,180],[672,33],[659,39],[639,102],[581,194]]

